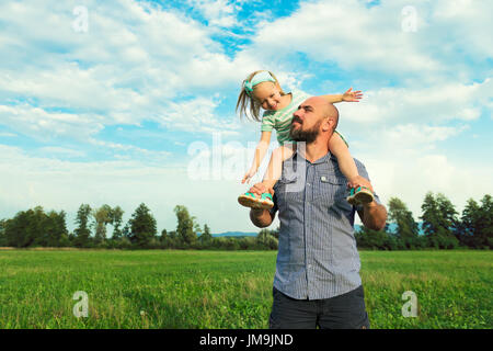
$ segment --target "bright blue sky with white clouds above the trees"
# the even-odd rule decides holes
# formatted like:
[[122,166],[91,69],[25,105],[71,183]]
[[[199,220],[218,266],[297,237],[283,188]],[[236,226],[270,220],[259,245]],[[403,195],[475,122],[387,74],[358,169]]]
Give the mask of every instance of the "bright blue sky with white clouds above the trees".
[[[184,205],[213,233],[256,231],[237,197],[260,123],[241,82],[362,90],[339,132],[383,204],[426,192],[460,213],[493,193],[493,2],[2,1],[0,218],[41,205]],[[271,149],[275,148],[275,136]],[[253,182],[261,180],[268,156]],[[275,226],[277,223],[273,224]]]

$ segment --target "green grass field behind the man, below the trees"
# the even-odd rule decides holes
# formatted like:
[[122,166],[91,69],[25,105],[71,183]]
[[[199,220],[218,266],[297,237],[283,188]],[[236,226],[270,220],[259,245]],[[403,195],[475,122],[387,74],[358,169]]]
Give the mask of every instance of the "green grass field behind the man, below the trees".
[[[493,252],[362,251],[371,328],[492,328]],[[0,250],[0,328],[267,328],[274,251]],[[89,317],[76,318],[77,291]],[[403,317],[402,294],[419,316]]]

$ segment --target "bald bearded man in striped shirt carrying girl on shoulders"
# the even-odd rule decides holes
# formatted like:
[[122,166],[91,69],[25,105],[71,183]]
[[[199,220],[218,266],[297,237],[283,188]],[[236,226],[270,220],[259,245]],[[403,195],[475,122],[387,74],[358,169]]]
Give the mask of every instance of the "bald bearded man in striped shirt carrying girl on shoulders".
[[[284,162],[274,190],[262,183],[250,189],[257,195],[274,194],[272,210],[251,210],[255,226],[270,226],[279,212],[271,328],[369,328],[354,215],[357,212],[366,227],[381,230],[387,211],[376,194],[366,205],[347,203],[347,181],[328,149],[337,120],[337,110],[324,99],[307,99],[294,114],[290,129],[295,141],[305,143],[298,143],[293,158]],[[359,176],[368,179],[365,166],[355,161]],[[369,181],[364,185],[372,192]]]

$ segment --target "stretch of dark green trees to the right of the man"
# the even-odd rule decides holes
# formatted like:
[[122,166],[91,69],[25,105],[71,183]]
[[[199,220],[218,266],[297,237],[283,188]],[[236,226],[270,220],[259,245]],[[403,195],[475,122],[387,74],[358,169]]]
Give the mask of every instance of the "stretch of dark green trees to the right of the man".
[[[493,202],[484,195],[480,203],[469,199],[462,214],[444,194],[425,195],[421,206],[422,231],[408,206],[398,197],[388,204],[388,224],[382,231],[362,227],[355,234],[358,248],[374,250],[492,249]],[[394,224],[390,230],[389,224]]]

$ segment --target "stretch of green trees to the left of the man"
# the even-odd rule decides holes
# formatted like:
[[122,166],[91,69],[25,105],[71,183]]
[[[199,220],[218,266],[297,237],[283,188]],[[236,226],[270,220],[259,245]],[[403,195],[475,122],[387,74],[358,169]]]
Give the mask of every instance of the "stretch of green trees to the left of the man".
[[[13,218],[0,220],[0,247],[74,247],[101,249],[277,249],[277,239],[257,237],[216,238],[207,224],[203,227],[185,206],[174,207],[175,230],[158,235],[154,216],[140,204],[123,226],[122,207],[80,205],[73,233],[67,229],[66,213],[45,212],[43,207],[21,211]],[[108,226],[113,227],[111,236]]]

